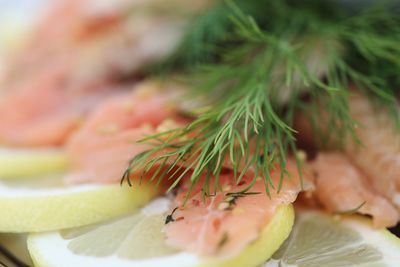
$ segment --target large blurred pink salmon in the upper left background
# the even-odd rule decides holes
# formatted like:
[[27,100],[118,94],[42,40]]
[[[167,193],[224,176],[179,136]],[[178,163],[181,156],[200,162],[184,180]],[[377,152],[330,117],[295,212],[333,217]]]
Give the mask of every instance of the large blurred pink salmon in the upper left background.
[[34,39],[6,64],[0,84],[0,143],[63,144],[82,113],[108,97],[104,87],[134,78],[143,65],[175,48],[190,15],[203,10],[207,1],[195,2],[173,1],[187,13],[161,0],[54,4]]

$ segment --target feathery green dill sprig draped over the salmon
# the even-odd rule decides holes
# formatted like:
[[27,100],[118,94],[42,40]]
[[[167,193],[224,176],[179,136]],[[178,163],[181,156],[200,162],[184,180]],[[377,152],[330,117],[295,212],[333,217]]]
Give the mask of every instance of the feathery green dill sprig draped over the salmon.
[[[129,181],[132,171],[156,169],[151,179],[172,178],[170,190],[190,176],[192,187],[203,181],[204,194],[211,195],[210,183],[217,190],[221,170],[229,166],[237,183],[252,169],[253,183],[262,177],[269,194],[279,191],[288,175],[290,151],[300,171],[293,129],[299,110],[318,122],[323,107],[326,127],[332,129],[326,138],[343,140],[348,134],[357,138],[349,113],[351,85],[375,103],[397,109],[397,14],[385,6],[350,13],[325,1],[240,2],[247,4],[225,1],[196,19],[193,29],[200,34],[188,34],[185,49],[170,58],[186,70],[190,96],[202,99],[207,109],[185,127],[141,140],[152,148],[130,161],[124,179]],[[269,7],[260,12],[266,2]],[[210,21],[217,30],[206,38]],[[398,120],[398,112],[392,114]],[[278,185],[270,177],[276,167]]]

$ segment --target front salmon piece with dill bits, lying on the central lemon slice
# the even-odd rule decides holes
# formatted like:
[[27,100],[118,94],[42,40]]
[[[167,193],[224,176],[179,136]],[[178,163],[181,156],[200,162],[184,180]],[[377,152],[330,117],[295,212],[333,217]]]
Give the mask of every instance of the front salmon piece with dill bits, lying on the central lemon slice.
[[[235,182],[233,173],[223,173],[218,178],[218,190],[214,191],[215,178],[209,185],[210,196],[204,197],[202,178],[192,188],[187,202],[185,198],[191,182],[186,180],[178,189],[174,200],[173,221],[165,226],[167,243],[173,247],[203,256],[232,257],[259,237],[280,205],[295,201],[301,191],[296,164],[289,160],[290,178],[285,177],[280,192],[266,194],[264,180],[257,178],[245,194],[235,194],[245,189],[252,175],[245,175]],[[280,172],[271,173],[278,186]],[[171,211],[172,212],[172,211]]]

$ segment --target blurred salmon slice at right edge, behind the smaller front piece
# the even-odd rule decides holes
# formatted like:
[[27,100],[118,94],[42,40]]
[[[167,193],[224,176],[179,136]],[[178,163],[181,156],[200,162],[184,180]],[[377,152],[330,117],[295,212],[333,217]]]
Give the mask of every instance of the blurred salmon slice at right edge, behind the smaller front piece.
[[[377,192],[400,210],[400,137],[384,108],[374,108],[365,96],[350,99],[351,115],[358,122],[357,136],[345,147],[346,154],[370,179]],[[400,107],[399,111],[400,112]]]

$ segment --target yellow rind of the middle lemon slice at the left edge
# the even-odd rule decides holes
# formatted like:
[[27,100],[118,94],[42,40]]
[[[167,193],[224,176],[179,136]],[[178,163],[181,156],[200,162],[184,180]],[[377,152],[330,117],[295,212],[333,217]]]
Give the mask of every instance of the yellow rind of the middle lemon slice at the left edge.
[[150,184],[65,191],[47,196],[0,196],[0,232],[44,232],[97,223],[132,211],[157,194]]

